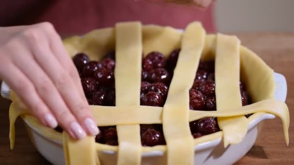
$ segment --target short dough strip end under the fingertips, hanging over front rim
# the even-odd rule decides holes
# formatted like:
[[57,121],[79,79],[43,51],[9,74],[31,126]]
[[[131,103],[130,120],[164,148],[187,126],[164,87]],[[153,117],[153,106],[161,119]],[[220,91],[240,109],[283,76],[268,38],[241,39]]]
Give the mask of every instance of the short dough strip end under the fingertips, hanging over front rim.
[[94,137],[87,136],[86,138],[75,140],[63,131],[62,143],[66,165],[100,165],[100,162],[96,162],[97,154]]

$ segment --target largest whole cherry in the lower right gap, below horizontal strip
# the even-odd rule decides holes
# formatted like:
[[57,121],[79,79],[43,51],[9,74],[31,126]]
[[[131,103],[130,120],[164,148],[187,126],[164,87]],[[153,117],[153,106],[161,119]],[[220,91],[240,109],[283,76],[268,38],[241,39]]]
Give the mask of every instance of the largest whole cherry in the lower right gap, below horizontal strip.
[[213,117],[205,117],[198,120],[197,129],[200,133],[208,135],[218,132],[220,128]]

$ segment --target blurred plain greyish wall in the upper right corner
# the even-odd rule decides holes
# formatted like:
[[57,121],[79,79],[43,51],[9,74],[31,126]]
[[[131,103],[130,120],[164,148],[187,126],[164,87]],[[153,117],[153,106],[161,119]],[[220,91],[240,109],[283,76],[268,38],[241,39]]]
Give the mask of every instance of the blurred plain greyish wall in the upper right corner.
[[294,31],[294,0],[216,0],[218,31]]

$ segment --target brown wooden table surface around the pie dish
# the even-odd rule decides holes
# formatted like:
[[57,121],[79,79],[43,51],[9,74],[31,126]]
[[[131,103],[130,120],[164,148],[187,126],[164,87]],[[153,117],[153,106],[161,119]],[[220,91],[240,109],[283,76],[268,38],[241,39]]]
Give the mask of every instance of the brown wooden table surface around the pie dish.
[[[290,110],[290,144],[287,147],[279,118],[264,124],[261,136],[252,149],[235,165],[294,165],[294,33],[239,34],[242,44],[260,55],[288,84],[287,105]],[[15,149],[9,147],[8,108],[10,101],[0,99],[0,165],[50,165],[33,147],[21,120],[16,122]]]

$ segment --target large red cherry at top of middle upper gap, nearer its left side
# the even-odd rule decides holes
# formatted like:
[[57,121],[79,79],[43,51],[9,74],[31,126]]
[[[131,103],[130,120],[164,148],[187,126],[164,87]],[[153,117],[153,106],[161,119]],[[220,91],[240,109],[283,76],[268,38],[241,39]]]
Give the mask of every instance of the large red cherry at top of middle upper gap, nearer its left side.
[[148,55],[146,55],[145,59],[143,61],[150,60],[152,63],[152,69],[156,68],[164,68],[166,66],[166,59],[164,55],[162,55],[159,52],[151,52]]

